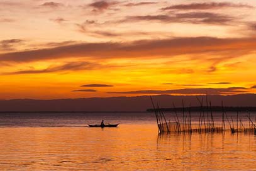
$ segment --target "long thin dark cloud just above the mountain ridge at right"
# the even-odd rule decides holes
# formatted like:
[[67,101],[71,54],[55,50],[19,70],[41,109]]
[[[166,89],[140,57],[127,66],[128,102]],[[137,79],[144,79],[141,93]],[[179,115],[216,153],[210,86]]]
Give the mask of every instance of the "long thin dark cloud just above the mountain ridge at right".
[[146,91],[125,91],[125,92],[108,92],[111,94],[208,94],[208,95],[221,95],[221,94],[238,94],[247,92],[245,87],[230,87],[226,89],[214,89],[214,88],[203,88],[203,89],[174,89],[166,91],[146,90]]

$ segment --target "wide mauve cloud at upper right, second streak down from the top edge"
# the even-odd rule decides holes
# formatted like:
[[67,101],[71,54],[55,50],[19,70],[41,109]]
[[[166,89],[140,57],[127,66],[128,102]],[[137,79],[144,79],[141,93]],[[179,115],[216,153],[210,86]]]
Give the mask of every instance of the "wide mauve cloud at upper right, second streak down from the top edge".
[[120,22],[134,21],[160,21],[164,23],[194,23],[194,24],[211,24],[211,25],[227,25],[235,18],[217,13],[177,13],[147,16],[128,16]]

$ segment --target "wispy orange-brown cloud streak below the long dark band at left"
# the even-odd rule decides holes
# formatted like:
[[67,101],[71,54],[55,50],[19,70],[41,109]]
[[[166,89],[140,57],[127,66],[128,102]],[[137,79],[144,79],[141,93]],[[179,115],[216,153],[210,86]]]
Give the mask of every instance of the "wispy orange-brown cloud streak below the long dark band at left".
[[91,63],[91,62],[70,62],[60,66],[50,66],[47,69],[43,69],[43,70],[35,70],[35,69],[19,70],[16,72],[6,72],[6,73],[3,73],[2,75],[41,74],[41,73],[61,72],[61,71],[69,71],[69,70],[92,70],[96,67],[99,67],[99,64]]

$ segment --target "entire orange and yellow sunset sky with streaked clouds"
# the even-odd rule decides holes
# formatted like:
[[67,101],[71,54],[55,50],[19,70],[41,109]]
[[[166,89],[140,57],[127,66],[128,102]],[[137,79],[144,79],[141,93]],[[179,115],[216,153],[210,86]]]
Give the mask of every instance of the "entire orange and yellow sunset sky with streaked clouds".
[[0,0],[0,99],[256,93],[255,8]]

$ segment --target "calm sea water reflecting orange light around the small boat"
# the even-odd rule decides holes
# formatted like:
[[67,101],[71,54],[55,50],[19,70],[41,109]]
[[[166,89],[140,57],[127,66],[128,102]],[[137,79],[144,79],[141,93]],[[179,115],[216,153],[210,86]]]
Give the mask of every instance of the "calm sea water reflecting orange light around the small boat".
[[[121,124],[86,127],[101,119]],[[256,170],[255,135],[158,135],[148,113],[1,113],[0,127],[0,170]]]

